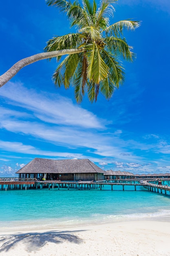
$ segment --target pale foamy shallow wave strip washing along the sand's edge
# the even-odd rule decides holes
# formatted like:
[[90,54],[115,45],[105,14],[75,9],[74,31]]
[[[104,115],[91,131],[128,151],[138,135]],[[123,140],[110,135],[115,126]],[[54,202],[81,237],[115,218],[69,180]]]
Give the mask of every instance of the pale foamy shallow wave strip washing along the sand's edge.
[[91,218],[60,218],[60,219],[39,219],[39,220],[22,220],[22,221],[8,221],[0,222],[0,229],[5,231],[10,231],[15,229],[18,231],[22,230],[36,230],[36,229],[61,229],[66,227],[79,227],[82,225],[97,225],[110,222],[121,222],[121,221],[133,221],[133,220],[170,220],[170,210],[158,210],[157,212],[148,212],[148,213],[132,213],[124,215],[103,215],[103,214],[92,214]]

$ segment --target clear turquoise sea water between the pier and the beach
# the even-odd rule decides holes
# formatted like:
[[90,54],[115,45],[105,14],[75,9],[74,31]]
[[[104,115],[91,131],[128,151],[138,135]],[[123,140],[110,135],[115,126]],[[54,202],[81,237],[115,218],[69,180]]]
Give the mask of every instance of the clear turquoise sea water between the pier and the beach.
[[76,189],[0,190],[0,230],[61,228],[104,222],[169,218],[170,195],[142,186],[122,191]]

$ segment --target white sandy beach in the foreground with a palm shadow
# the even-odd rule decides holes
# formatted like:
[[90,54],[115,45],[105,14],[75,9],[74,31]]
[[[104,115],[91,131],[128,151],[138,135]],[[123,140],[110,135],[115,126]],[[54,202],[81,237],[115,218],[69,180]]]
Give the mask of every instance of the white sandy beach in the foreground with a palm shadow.
[[34,231],[0,230],[1,256],[170,256],[170,222],[130,221]]

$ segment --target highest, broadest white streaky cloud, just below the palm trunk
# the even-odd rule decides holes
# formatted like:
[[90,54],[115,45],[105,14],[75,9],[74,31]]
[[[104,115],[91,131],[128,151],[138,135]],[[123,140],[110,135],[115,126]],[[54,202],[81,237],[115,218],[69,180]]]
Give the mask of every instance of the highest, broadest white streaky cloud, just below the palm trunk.
[[[104,128],[102,120],[99,120],[93,113],[73,104],[71,99],[59,94],[37,93],[35,90],[24,88],[20,83],[9,82],[1,88],[0,95],[6,99],[7,103],[32,111],[34,118],[37,117],[51,124]],[[11,111],[12,113],[14,112]],[[15,114],[17,115],[16,112]]]

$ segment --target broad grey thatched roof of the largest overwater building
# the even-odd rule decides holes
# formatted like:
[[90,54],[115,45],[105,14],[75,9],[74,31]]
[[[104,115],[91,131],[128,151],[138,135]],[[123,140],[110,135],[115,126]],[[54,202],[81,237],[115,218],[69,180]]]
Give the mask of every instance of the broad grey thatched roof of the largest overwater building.
[[104,173],[104,171],[88,159],[35,158],[16,173]]

